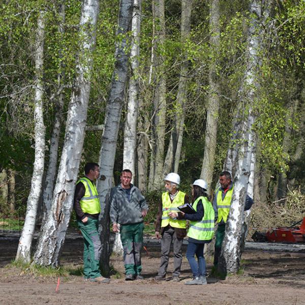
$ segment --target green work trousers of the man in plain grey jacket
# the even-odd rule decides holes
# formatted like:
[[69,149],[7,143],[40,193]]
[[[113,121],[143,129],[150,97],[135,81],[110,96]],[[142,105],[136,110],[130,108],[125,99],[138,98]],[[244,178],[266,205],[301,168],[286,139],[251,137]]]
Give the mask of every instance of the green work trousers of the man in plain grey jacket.
[[120,226],[120,236],[124,250],[124,266],[126,275],[141,274],[143,229],[144,223]]

